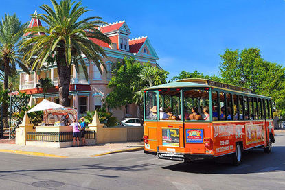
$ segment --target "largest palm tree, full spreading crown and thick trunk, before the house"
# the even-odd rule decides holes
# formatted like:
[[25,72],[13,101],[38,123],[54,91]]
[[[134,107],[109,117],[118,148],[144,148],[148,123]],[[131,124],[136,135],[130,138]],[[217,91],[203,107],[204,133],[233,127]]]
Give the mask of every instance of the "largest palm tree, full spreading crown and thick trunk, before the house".
[[24,58],[29,61],[36,56],[36,60],[32,64],[32,70],[35,70],[40,69],[49,56],[54,56],[58,67],[60,104],[67,106],[72,64],[75,65],[76,71],[81,64],[85,78],[88,78],[87,68],[82,57],[84,54],[102,73],[100,65],[104,65],[104,63],[101,58],[106,57],[106,54],[102,47],[93,43],[90,38],[109,44],[111,44],[111,40],[98,30],[101,24],[106,24],[102,18],[94,16],[79,20],[85,12],[89,11],[81,6],[81,2],[76,3],[71,0],[62,0],[60,4],[56,0],[51,0],[51,2],[54,10],[48,5],[42,5],[41,9],[45,11],[45,14],[33,15],[45,21],[47,26],[26,30],[26,32],[43,32],[47,35],[33,36],[25,40],[23,47],[29,50]]

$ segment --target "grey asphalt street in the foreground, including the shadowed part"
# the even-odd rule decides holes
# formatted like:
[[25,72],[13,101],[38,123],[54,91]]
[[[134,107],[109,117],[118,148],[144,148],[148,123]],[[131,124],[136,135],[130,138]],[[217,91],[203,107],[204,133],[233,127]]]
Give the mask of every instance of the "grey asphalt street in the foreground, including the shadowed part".
[[[158,160],[142,151],[96,158],[0,153],[1,189],[285,189],[285,131],[273,152],[244,152],[243,163]],[[40,188],[41,189],[41,188]]]

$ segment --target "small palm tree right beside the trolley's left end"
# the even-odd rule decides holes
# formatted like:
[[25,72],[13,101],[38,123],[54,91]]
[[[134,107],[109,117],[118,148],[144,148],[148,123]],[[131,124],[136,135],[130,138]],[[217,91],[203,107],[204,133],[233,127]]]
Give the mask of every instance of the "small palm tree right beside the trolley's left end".
[[159,84],[165,84],[168,72],[158,67],[153,67],[150,64],[144,64],[139,72],[139,80],[133,82],[133,101],[139,106],[141,121],[143,121],[143,99],[144,89]]

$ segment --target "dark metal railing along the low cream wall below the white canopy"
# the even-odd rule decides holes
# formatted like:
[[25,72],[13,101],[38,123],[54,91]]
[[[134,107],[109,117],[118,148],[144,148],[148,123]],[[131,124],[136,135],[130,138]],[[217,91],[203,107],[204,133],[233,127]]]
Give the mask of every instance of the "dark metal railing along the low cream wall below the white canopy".
[[[95,131],[86,131],[85,139],[95,139]],[[73,132],[27,132],[27,141],[73,141]]]

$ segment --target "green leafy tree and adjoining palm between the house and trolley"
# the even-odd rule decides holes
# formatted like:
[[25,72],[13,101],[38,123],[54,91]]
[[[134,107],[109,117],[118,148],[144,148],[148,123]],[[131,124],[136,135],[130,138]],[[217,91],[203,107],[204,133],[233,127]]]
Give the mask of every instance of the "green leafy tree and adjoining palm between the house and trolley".
[[106,97],[106,104],[110,108],[120,108],[135,103],[142,118],[144,89],[166,83],[168,72],[149,63],[141,64],[134,58],[124,58],[113,66],[112,75],[108,85],[112,91]]

